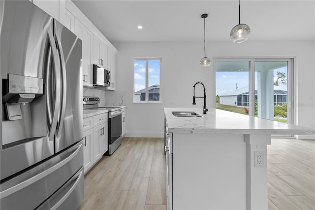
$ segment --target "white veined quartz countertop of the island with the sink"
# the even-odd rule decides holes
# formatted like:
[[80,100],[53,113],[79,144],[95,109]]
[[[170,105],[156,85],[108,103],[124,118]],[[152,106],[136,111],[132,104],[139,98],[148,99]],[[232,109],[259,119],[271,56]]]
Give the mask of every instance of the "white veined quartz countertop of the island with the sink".
[[[172,111],[194,111],[203,117],[176,117]],[[169,132],[199,134],[303,134],[315,135],[315,128],[307,128],[272,120],[251,117],[215,108],[203,114],[197,108],[164,108]]]

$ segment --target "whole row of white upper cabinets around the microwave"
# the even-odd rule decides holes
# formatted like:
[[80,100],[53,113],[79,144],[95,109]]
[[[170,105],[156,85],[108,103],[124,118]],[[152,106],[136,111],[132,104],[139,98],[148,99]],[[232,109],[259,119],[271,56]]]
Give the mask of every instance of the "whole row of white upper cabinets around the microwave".
[[96,64],[111,72],[111,85],[106,90],[116,90],[117,50],[71,0],[65,0],[64,7],[62,23],[82,39],[83,85],[93,86],[93,64]]

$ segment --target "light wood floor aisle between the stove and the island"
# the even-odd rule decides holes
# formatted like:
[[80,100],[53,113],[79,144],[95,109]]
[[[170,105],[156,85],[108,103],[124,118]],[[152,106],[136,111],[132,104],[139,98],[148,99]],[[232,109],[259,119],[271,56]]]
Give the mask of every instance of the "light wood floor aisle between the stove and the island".
[[123,138],[84,177],[79,210],[166,210],[162,138]]

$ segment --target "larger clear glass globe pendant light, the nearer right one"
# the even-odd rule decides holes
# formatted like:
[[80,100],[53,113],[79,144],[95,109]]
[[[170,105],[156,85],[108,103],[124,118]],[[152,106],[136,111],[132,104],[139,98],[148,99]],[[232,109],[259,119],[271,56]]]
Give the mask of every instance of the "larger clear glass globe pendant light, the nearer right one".
[[251,35],[251,28],[246,24],[241,24],[240,0],[238,0],[238,19],[239,19],[239,24],[234,26],[234,28],[231,30],[230,38],[235,43],[242,43],[246,41],[248,37]]

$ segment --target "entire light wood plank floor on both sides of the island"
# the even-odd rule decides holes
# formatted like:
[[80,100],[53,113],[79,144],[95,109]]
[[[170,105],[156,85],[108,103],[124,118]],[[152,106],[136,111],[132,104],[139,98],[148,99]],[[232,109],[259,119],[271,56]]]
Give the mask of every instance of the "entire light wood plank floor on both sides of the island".
[[[268,209],[315,210],[315,141],[272,139]],[[166,210],[161,138],[124,138],[85,175],[79,210]]]

